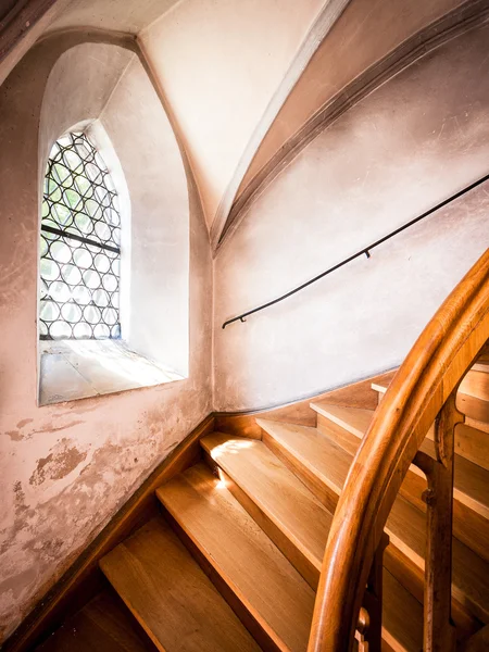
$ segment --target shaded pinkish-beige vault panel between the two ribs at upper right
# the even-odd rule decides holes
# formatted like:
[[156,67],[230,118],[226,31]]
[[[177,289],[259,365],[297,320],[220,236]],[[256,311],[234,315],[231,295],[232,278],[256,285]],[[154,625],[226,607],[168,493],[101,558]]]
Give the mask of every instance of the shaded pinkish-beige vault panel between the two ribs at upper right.
[[336,93],[462,0],[352,0],[311,58],[263,139],[238,196],[272,156]]

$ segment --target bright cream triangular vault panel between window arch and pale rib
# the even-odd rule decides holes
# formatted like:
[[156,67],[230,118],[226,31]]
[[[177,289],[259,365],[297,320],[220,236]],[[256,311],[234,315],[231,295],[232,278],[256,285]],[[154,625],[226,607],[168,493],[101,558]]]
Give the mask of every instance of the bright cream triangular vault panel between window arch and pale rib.
[[184,135],[208,225],[323,0],[186,0],[139,35]]

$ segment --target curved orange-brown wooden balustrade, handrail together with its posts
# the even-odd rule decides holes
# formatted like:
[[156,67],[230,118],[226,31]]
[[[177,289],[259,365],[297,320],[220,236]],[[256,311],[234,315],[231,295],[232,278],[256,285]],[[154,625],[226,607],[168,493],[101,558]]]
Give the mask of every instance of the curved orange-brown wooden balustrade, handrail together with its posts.
[[[361,650],[380,650],[383,532],[412,462],[428,480],[424,649],[454,649],[450,617],[453,440],[455,425],[463,422],[455,396],[488,338],[489,250],[414,344],[353,460],[328,537],[309,652],[348,652],[355,632]],[[436,460],[418,451],[434,422]]]

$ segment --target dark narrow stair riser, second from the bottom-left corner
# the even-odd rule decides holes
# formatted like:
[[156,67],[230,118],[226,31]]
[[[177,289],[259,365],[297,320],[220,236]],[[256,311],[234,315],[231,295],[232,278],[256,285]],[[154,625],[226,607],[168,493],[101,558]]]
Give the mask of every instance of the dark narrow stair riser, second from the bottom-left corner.
[[248,605],[240,600],[238,592],[234,591],[233,587],[230,587],[222,577],[218,569],[216,569],[213,564],[210,563],[209,559],[205,556],[199,546],[191,539],[191,537],[189,537],[189,535],[180,526],[174,515],[165,507],[165,505],[162,505],[162,507],[163,515],[171,525],[172,529],[175,531],[177,537],[180,539],[180,541],[184,543],[196,562],[199,564],[218,592],[223,595],[224,600],[226,600],[259,645],[265,652],[290,652],[286,647],[277,644],[268,636],[266,628],[263,627],[263,624],[255,617],[252,611],[248,609]]

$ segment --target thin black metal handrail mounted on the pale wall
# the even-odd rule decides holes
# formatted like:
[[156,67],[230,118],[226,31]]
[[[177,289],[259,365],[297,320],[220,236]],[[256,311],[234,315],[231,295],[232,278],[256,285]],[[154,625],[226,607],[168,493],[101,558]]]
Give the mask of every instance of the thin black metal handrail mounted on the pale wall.
[[356,253],[353,253],[352,255],[350,255],[350,256],[346,258],[344,260],[342,260],[340,263],[337,263],[336,265],[333,265],[333,267],[329,267],[329,269],[326,269],[322,274],[318,274],[317,276],[314,276],[314,278],[311,278],[310,280],[303,283],[302,285],[298,286],[293,290],[290,290],[289,292],[286,292],[285,294],[281,294],[281,297],[278,297],[277,299],[274,299],[273,301],[268,301],[267,303],[263,303],[262,305],[259,305],[258,308],[253,308],[253,310],[249,310],[249,311],[247,311],[247,312],[238,315],[237,317],[233,317],[233,319],[228,319],[227,322],[224,322],[223,328],[226,328],[226,326],[228,326],[229,324],[233,324],[234,322],[246,322],[244,317],[248,317],[249,315],[252,315],[252,314],[254,314],[256,312],[260,312],[262,310],[265,310],[265,308],[269,308],[271,305],[274,305],[275,303],[279,303],[280,301],[284,301],[285,299],[288,299],[292,294],[297,294],[297,292],[300,292],[301,290],[303,290],[304,288],[309,287],[310,285],[313,285],[314,283],[321,280],[322,278],[324,278],[328,274],[331,274],[331,272],[336,272],[336,269],[339,269],[340,267],[343,267],[344,265],[348,265],[348,263],[351,263],[352,261],[354,261],[358,258],[361,258],[363,255],[366,255],[367,259],[371,258],[371,251],[373,249],[375,249],[376,247],[378,247],[379,244],[383,244],[387,240],[390,240],[390,238],[393,238],[394,236],[397,236],[398,234],[401,234],[402,231],[406,230],[411,226],[414,226],[415,224],[417,224],[418,222],[421,222],[425,217],[428,217],[429,215],[431,215],[436,211],[439,211],[440,209],[442,209],[447,204],[451,203],[452,201],[455,201],[455,199],[459,199],[460,197],[466,195],[471,190],[474,190],[474,188],[477,188],[477,186],[480,186],[481,184],[484,184],[487,180],[489,180],[489,174],[487,174],[486,176],[481,177],[477,181],[474,181],[474,184],[471,184],[469,186],[467,186],[463,190],[460,190],[459,192],[455,192],[455,195],[452,195],[451,197],[449,197],[444,201],[438,203],[432,209],[429,209],[429,211],[425,211],[424,213],[422,213],[421,215],[418,215],[414,220],[411,220],[410,222],[408,222],[403,226],[400,226],[399,228],[394,229],[390,234],[387,234],[387,236],[384,236],[379,240],[376,240],[375,242],[372,242],[372,244],[368,244],[367,247],[364,247],[363,249],[361,249]]

